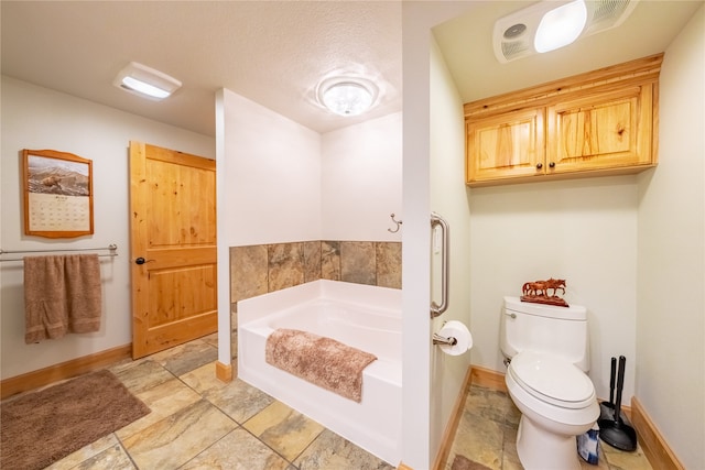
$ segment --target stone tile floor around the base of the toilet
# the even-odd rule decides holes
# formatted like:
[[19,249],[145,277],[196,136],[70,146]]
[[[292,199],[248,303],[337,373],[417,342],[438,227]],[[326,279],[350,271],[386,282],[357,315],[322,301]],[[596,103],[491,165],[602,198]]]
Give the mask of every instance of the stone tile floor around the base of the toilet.
[[[474,470],[522,469],[516,445],[520,418],[521,413],[507,393],[470,386],[445,469],[453,469],[456,456],[469,460]],[[651,470],[639,446],[633,452],[623,452],[600,440],[598,449],[598,464],[581,459],[582,470]]]

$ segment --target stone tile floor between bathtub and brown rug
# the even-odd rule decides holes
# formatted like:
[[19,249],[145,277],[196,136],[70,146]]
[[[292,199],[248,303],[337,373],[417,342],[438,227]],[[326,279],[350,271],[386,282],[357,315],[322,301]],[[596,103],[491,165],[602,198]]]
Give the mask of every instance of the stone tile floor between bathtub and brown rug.
[[152,413],[59,469],[393,469],[240,380],[215,376],[215,335],[110,369]]

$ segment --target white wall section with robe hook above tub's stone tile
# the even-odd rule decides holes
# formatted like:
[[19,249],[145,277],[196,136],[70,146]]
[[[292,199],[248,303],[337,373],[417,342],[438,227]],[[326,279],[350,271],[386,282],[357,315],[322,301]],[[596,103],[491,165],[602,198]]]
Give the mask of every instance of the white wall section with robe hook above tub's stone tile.
[[401,112],[322,135],[323,240],[401,241]]

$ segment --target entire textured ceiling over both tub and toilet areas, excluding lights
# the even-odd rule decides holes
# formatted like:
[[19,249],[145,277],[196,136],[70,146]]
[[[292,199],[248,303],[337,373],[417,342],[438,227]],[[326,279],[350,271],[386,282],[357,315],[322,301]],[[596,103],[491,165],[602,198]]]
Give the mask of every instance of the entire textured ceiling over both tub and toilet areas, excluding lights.
[[[703,1],[641,0],[618,29],[500,64],[494,23],[529,4],[467,1],[467,13],[434,29],[465,102],[662,52]],[[317,132],[402,109],[400,1],[2,0],[0,8],[3,75],[203,134],[215,135],[220,88]],[[131,61],[183,87],[160,102],[113,87]],[[316,103],[316,85],[338,73],[380,85],[371,112],[343,118]]]

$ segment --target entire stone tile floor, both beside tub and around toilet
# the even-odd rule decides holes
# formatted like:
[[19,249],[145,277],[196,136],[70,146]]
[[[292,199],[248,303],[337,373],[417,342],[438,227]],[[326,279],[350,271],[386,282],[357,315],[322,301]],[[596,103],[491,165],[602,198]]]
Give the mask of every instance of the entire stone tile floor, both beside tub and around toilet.
[[[245,382],[218,381],[216,341],[212,335],[111,367],[152,413],[50,469],[393,469]],[[514,447],[519,417],[507,394],[470,387],[445,470],[456,456],[473,469],[521,469]],[[651,470],[640,449],[620,452],[604,445],[599,457],[599,466],[584,463],[583,470]]]

